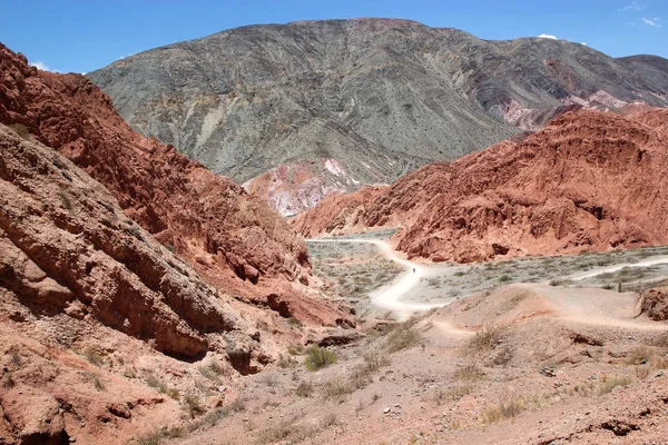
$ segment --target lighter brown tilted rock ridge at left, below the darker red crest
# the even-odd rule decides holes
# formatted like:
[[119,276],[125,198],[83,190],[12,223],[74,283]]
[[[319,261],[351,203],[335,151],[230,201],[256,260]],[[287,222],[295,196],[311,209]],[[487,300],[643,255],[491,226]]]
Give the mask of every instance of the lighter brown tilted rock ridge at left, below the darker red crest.
[[0,149],[0,285],[23,306],[96,319],[173,356],[224,350],[226,333],[255,344],[218,291],[105,187],[4,126]]

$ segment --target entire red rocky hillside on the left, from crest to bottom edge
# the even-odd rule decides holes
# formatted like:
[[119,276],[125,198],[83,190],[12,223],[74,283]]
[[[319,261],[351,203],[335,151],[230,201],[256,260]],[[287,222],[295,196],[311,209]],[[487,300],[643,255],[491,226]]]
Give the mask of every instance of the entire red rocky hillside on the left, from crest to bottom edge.
[[220,406],[353,324],[310,267],[266,202],[0,44],[0,444],[127,443]]

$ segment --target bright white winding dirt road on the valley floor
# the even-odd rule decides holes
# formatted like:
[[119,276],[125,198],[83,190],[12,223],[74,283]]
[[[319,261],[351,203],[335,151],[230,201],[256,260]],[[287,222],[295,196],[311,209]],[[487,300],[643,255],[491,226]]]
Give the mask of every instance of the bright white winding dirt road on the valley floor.
[[[409,294],[424,276],[424,268],[418,263],[403,259],[392,249],[389,243],[379,239],[306,239],[307,243],[364,243],[375,245],[385,258],[400,264],[405,271],[390,285],[381,286],[369,294],[371,301],[381,308],[395,312],[402,319],[409,318],[414,313],[425,312],[434,307],[442,307],[446,303],[407,303],[401,298]],[[414,271],[413,271],[414,270]]]

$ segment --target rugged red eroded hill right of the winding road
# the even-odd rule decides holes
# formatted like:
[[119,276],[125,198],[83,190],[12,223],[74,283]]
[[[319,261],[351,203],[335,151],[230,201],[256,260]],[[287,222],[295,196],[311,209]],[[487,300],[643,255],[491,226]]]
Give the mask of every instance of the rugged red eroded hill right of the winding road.
[[579,110],[522,141],[425,166],[392,187],[331,197],[305,236],[401,226],[410,258],[473,261],[666,244],[668,110]]

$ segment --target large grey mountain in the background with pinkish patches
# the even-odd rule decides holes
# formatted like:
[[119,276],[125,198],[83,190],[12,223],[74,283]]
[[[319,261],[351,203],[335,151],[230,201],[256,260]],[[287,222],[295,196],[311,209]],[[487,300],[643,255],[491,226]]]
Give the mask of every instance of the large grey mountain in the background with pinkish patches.
[[577,108],[668,105],[667,61],[394,19],[250,26],[90,72],[136,130],[283,215]]

